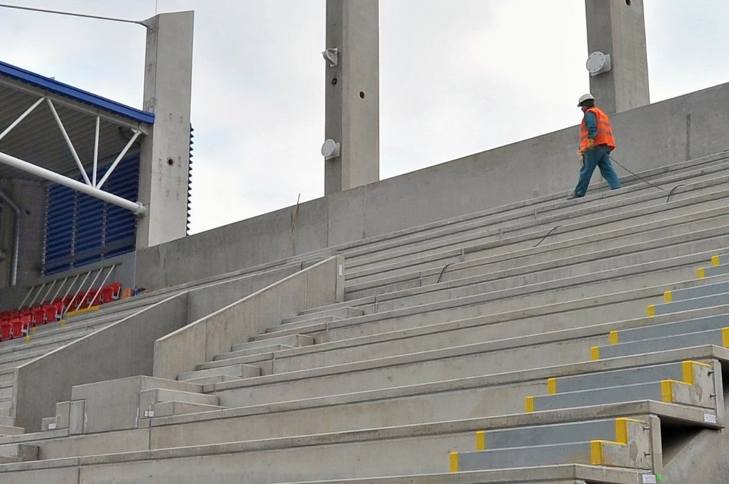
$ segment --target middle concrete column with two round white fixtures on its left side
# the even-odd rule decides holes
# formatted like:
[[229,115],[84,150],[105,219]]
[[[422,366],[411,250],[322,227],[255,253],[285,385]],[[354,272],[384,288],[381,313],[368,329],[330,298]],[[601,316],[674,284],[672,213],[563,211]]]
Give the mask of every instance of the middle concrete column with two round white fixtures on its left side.
[[380,179],[380,68],[378,0],[327,0],[324,138],[340,143],[340,156],[325,160],[324,193]]

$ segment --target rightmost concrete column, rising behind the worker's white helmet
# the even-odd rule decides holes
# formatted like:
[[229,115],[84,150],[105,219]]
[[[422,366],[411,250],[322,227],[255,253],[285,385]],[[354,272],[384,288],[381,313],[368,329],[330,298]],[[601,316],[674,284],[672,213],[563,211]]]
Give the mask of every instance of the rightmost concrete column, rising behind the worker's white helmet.
[[611,57],[612,70],[590,76],[590,92],[608,113],[650,104],[643,0],[585,0],[588,54]]

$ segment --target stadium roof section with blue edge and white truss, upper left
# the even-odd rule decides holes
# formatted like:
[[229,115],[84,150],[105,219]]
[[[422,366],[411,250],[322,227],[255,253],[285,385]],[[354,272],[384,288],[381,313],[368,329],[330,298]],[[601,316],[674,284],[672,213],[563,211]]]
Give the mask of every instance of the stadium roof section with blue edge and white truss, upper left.
[[147,111],[0,62],[0,178],[42,178],[144,213],[102,187],[154,122]]

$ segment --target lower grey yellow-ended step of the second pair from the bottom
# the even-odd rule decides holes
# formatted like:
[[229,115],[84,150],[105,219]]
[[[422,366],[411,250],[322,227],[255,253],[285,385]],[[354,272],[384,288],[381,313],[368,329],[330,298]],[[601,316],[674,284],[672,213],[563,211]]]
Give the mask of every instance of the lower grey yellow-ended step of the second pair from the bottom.
[[601,403],[657,400],[666,403],[681,403],[695,407],[716,409],[716,388],[703,384],[687,384],[683,381],[663,380],[650,383],[604,387],[526,397],[526,411],[539,412],[558,408],[585,407]]

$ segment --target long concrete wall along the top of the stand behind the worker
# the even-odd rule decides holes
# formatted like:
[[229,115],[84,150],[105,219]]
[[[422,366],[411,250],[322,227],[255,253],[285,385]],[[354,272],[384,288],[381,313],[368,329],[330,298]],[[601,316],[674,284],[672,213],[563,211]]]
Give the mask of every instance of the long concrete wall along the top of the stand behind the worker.
[[[612,120],[614,157],[634,172],[724,151],[729,84],[623,111]],[[149,247],[138,253],[138,285],[179,284],[524,199],[566,195],[577,183],[578,137],[573,126],[306,202],[289,254],[293,207]]]

